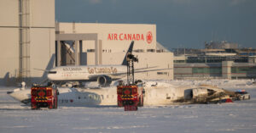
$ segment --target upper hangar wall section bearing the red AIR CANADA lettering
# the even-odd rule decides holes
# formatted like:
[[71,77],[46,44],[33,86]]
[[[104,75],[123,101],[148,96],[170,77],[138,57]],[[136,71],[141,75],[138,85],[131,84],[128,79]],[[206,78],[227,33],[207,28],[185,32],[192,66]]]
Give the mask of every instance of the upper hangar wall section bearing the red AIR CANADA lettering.
[[[56,27],[60,33],[65,34],[98,33],[98,39],[102,40],[102,49],[114,47],[112,53],[127,50],[132,40],[135,41],[134,49],[143,49],[146,52],[147,49],[155,49],[156,47],[156,25],[59,23]],[[148,32],[152,35],[152,42],[147,40]],[[129,36],[131,37],[129,38]]]

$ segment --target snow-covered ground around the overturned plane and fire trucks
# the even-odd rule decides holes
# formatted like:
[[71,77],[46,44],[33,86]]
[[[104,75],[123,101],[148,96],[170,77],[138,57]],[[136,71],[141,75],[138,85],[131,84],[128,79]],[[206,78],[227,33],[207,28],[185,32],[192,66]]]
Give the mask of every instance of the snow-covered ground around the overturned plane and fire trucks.
[[[236,91],[246,89],[251,100],[222,104],[124,108],[60,107],[31,110],[0,87],[0,133],[9,132],[252,132],[256,130],[256,85],[253,80],[159,80],[158,86],[207,84]],[[148,85],[150,86],[150,85]]]

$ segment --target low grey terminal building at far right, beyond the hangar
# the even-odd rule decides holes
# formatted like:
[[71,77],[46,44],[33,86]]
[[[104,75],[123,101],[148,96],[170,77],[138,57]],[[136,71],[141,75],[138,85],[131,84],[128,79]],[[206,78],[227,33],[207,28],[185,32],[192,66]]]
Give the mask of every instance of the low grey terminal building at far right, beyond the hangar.
[[209,42],[205,49],[174,52],[175,79],[256,79],[256,49]]

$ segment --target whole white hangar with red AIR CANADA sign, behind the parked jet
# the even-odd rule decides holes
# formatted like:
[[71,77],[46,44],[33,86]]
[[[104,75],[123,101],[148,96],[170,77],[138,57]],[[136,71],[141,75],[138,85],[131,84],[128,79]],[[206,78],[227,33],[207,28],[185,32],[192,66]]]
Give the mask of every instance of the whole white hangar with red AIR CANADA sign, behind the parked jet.
[[154,69],[137,73],[137,79],[173,79],[173,54],[156,42],[156,25],[56,23],[55,31],[59,66],[121,64],[134,41],[133,54],[139,59],[135,67]]

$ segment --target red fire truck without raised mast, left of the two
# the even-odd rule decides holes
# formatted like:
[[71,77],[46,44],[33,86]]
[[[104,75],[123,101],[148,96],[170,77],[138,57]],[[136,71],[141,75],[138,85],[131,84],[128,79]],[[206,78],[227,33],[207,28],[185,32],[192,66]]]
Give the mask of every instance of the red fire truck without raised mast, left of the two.
[[58,108],[59,91],[56,86],[33,85],[31,88],[31,108]]

